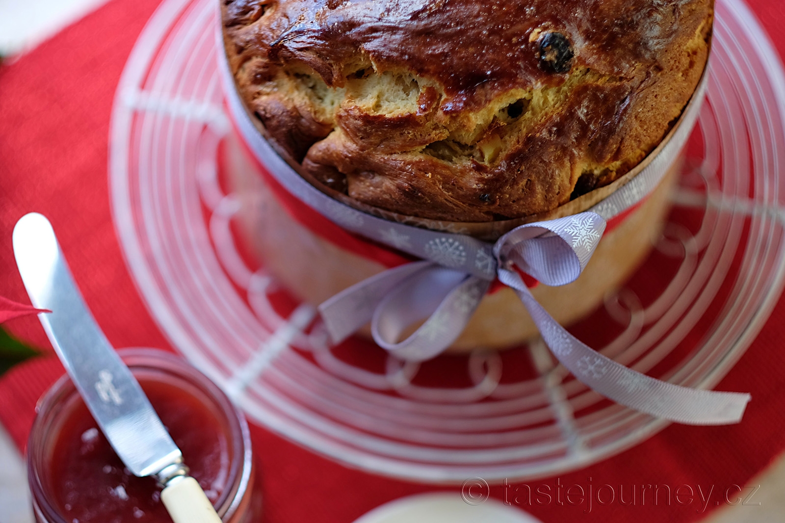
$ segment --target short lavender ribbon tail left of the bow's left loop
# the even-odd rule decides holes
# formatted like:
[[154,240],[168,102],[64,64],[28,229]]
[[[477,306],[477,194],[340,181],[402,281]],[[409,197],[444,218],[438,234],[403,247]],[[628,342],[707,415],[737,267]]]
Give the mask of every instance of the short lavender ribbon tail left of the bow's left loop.
[[386,294],[410,276],[432,265],[432,262],[400,265],[356,283],[323,302],[318,310],[327,334],[330,335],[330,341],[338,344],[349,338],[371,321],[374,310]]

